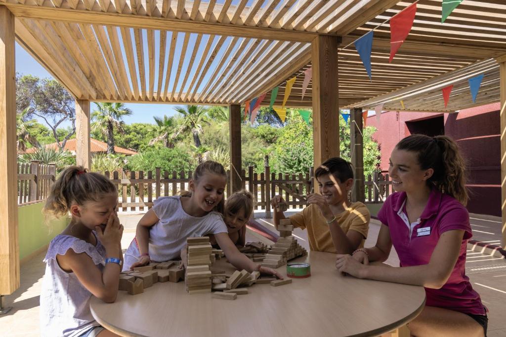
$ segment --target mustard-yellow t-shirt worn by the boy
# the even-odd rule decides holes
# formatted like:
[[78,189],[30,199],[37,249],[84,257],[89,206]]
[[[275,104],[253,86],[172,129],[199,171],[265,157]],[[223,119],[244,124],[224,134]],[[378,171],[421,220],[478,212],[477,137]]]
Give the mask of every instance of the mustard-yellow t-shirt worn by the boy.
[[[330,230],[317,205],[309,205],[302,212],[290,216],[289,219],[294,227],[307,229],[309,248],[312,251],[336,253]],[[359,247],[364,247],[371,219],[369,210],[364,204],[361,202],[352,203],[346,211],[336,215],[335,219],[345,234],[349,230],[355,230],[362,234],[364,239]]]

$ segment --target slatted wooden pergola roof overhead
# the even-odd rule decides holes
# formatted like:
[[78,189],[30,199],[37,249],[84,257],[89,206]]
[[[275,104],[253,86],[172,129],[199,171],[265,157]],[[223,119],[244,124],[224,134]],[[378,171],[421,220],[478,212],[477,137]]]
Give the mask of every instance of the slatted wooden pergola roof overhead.
[[[93,101],[240,104],[280,85],[275,104],[281,105],[285,80],[297,75],[287,106],[311,106],[311,84],[302,100],[302,73],[311,66],[316,34],[342,36],[341,107],[369,104],[506,54],[502,0],[464,0],[444,24],[441,0],[420,0],[411,33],[392,63],[388,23],[374,31],[370,81],[353,45],[347,45],[412,3],[0,0],[16,16],[18,42],[76,98]],[[492,84],[482,90],[498,100]],[[429,106],[410,97],[413,107]],[[269,101],[268,94],[264,103]],[[423,110],[438,103],[430,106]]]

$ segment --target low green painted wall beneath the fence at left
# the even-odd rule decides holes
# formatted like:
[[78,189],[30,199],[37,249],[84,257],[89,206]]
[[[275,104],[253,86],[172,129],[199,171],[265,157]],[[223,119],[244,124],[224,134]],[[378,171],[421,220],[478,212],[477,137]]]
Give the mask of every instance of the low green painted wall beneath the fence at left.
[[43,208],[44,202],[18,206],[20,260],[48,245],[70,221],[70,218],[61,218],[46,224]]

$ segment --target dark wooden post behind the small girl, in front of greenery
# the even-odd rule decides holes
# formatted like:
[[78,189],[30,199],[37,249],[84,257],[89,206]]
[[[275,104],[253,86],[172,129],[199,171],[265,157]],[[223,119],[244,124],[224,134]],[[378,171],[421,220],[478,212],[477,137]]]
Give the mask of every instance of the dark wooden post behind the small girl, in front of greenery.
[[242,188],[241,179],[241,106],[229,107],[230,130],[230,191],[236,192]]

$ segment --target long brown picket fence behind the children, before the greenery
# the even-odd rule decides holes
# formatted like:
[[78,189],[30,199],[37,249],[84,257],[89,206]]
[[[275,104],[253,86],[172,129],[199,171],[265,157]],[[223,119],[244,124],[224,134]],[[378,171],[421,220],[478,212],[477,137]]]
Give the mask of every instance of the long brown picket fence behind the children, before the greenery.
[[[111,174],[112,173],[112,174]],[[153,171],[105,172],[118,187],[118,211],[147,211],[153,201],[163,196],[174,196],[181,190],[188,190],[192,171],[167,172],[157,168]],[[227,172],[230,177],[230,172]],[[121,175],[121,177],[120,177]],[[306,195],[312,190],[313,169],[302,174],[271,173],[266,166],[264,172],[256,173],[252,166],[247,172],[241,172],[242,188],[249,190],[256,198],[256,209],[266,211],[270,217],[270,200],[281,195],[292,209],[303,209],[306,206]],[[381,203],[391,193],[391,181],[387,175],[374,173],[365,179],[366,203]],[[227,183],[225,198],[230,196],[230,184]]]

